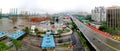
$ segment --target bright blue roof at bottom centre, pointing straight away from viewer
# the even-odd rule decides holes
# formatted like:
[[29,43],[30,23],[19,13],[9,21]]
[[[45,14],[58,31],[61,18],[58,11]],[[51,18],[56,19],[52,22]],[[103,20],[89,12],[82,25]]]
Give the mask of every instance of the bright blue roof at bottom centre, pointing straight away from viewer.
[[43,49],[46,49],[46,48],[55,48],[55,42],[54,42],[53,35],[45,34],[43,36],[41,47]]

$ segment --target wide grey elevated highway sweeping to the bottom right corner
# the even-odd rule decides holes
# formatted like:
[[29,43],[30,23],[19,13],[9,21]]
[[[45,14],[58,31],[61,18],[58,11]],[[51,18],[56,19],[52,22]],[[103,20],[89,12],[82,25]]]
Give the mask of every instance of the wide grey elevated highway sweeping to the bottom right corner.
[[116,42],[112,39],[100,35],[99,33],[88,28],[73,16],[71,16],[71,18],[79,30],[83,33],[85,38],[96,49],[96,51],[120,51],[120,42]]

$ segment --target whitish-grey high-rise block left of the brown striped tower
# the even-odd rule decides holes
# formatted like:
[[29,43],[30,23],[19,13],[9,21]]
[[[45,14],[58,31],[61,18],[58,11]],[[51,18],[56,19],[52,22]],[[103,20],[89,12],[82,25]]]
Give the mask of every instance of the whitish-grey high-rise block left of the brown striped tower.
[[106,9],[105,7],[95,7],[92,11],[92,19],[97,22],[106,21]]

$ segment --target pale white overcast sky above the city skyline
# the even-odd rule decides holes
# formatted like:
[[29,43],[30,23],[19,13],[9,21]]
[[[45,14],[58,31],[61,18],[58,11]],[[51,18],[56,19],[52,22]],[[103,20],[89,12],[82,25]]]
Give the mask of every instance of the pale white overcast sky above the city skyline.
[[98,6],[120,6],[120,0],[0,0],[0,8],[7,13],[10,8],[34,12],[57,13],[63,11],[86,11]]

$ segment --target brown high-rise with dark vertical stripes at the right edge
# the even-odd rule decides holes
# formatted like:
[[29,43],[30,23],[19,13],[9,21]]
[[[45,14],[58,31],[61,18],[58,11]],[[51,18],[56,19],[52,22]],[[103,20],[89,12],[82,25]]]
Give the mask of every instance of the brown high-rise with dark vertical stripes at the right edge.
[[120,7],[113,6],[106,9],[106,23],[112,28],[120,27]]

